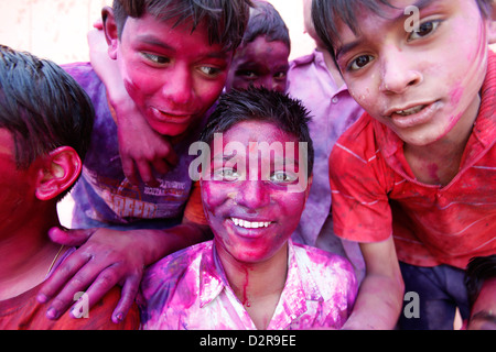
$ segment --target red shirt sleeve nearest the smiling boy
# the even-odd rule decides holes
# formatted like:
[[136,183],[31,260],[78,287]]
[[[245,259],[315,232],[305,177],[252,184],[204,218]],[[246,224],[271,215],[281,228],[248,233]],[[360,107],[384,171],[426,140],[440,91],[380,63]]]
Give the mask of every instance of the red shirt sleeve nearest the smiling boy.
[[391,235],[386,168],[364,116],[339,138],[330,156],[336,235],[356,242],[380,242]]

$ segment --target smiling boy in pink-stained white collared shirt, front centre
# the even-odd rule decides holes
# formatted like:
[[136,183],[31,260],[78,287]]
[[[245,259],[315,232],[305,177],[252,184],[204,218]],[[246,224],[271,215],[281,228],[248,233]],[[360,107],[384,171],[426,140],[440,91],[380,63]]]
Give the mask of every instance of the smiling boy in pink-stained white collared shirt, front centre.
[[[290,240],[308,197],[308,185],[289,190],[299,178],[294,166],[308,166],[309,175],[313,166],[306,121],[296,100],[273,90],[220,98],[202,134],[209,146],[202,199],[214,241],[151,266],[139,299],[144,329],[343,326],[356,295],[353,267]],[[274,152],[261,152],[263,144]]]

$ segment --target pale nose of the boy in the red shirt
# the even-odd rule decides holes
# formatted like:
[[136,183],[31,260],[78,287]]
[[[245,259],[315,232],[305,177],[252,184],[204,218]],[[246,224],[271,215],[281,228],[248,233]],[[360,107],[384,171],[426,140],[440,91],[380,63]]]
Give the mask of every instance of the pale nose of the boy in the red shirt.
[[403,94],[409,87],[422,81],[422,74],[418,69],[419,57],[402,53],[398,48],[385,51],[380,58],[381,81],[380,90],[391,94]]

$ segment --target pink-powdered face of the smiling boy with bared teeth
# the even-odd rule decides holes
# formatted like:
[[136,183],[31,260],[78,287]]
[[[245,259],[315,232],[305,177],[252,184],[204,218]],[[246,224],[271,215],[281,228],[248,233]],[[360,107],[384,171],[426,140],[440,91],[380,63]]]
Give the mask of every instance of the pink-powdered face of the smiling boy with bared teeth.
[[[242,146],[235,155],[226,148],[231,142]],[[260,152],[254,158],[254,145],[261,143],[291,145],[293,151],[279,161]],[[212,177],[201,182],[204,209],[220,257],[254,264],[287,249],[309,190],[288,190],[298,183],[293,172],[300,167],[298,145],[295,136],[268,122],[239,122],[223,134],[223,151],[212,154]]]

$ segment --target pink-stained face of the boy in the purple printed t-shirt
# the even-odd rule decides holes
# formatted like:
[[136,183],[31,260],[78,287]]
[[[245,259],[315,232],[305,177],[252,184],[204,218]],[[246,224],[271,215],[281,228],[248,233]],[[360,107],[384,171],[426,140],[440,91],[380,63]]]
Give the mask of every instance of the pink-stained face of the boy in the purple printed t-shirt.
[[208,45],[204,23],[194,32],[190,22],[174,24],[150,14],[129,18],[109,50],[138,110],[169,136],[186,132],[216,101],[233,57],[222,45]]

